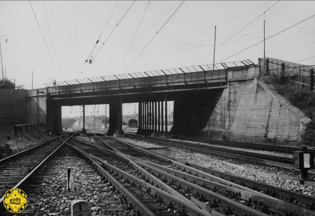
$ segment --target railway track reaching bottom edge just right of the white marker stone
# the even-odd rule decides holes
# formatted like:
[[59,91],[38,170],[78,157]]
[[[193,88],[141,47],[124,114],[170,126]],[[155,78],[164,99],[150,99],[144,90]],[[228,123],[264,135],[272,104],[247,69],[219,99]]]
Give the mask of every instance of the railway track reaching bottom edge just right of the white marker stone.
[[[123,187],[119,187],[119,189],[129,196],[135,196],[133,206],[141,206],[146,203],[145,206],[154,211],[153,215],[161,216],[164,214],[160,214],[160,211],[169,209],[173,215],[209,215],[190,200],[181,200],[175,196],[178,194],[174,189],[156,179],[136,163],[126,160],[120,153],[76,139],[69,140],[67,143],[82,154],[97,160],[105,171],[112,175],[112,179],[123,182]],[[154,187],[154,185],[158,186]],[[143,199],[146,194],[151,199]]]

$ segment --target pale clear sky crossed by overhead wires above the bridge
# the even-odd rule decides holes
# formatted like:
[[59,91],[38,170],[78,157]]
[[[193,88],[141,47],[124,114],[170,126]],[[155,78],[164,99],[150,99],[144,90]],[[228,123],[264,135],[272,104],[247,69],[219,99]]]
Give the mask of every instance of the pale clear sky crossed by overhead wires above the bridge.
[[[215,26],[215,63],[258,63],[263,43],[248,47],[263,41],[264,19],[266,56],[315,65],[315,16],[301,22],[315,14],[314,6],[315,1],[0,1],[3,71],[31,89],[32,71],[33,88],[43,88],[52,80],[212,64]],[[86,64],[98,39],[93,63]]]

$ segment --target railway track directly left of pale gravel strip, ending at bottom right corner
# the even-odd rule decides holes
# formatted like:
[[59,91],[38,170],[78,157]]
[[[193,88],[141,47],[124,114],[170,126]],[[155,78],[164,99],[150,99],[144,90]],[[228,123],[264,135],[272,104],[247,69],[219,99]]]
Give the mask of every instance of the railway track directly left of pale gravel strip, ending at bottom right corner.
[[[123,146],[122,143],[118,144],[117,140],[115,143],[113,141],[114,139],[109,138],[109,137],[99,137],[99,139],[102,139],[103,141],[105,141],[105,143],[103,145],[112,146],[113,148],[117,149],[118,151],[127,153],[129,155],[137,156],[137,155],[139,155],[139,151],[143,151],[137,147],[132,147],[132,148],[136,149],[136,151],[135,150],[132,151],[130,148],[130,145],[128,148],[128,147],[126,147],[126,145]],[[144,154],[149,153],[147,151],[144,151],[144,152],[145,152]],[[149,153],[149,154],[154,156],[154,154],[152,154],[152,153]],[[137,163],[139,163],[140,161],[143,162],[143,160],[140,159],[139,156],[138,156],[138,159],[134,158],[134,160],[136,160]],[[308,214],[312,215],[314,213],[314,212],[312,212],[312,209],[314,207],[314,205],[313,205],[314,204],[314,202],[313,202],[314,198],[311,196],[305,196],[303,194],[299,194],[296,192],[290,193],[292,191],[284,190],[281,188],[276,188],[276,187],[273,187],[271,185],[261,184],[259,182],[255,182],[255,181],[251,181],[251,180],[246,181],[247,179],[244,179],[244,178],[238,179],[237,176],[232,176],[233,177],[232,181],[237,182],[237,181],[243,180],[243,182],[242,182],[243,185],[248,184],[247,186],[252,186],[254,189],[259,190],[259,191],[264,190],[264,191],[266,191],[266,193],[268,193],[268,191],[270,191],[269,192],[270,195],[288,201],[288,202],[284,202],[282,200],[274,199],[271,196],[262,195],[261,193],[258,193],[257,191],[254,192],[253,190],[251,190],[250,192],[248,192],[248,191],[247,192],[244,192],[244,191],[241,192],[241,190],[247,190],[247,189],[245,187],[240,187],[240,185],[237,185],[237,184],[235,184],[231,181],[228,181],[226,179],[216,177],[215,174],[218,174],[218,173],[212,172],[211,174],[209,174],[210,170],[209,169],[207,170],[207,168],[201,169],[202,167],[200,167],[200,166],[199,167],[193,167],[193,164],[189,164],[191,166],[191,167],[189,167],[189,166],[187,166],[187,164],[181,164],[181,163],[176,163],[175,161],[172,161],[172,164],[175,164],[175,167],[177,167],[176,169],[180,170],[180,171],[176,172],[176,171],[171,170],[169,168],[165,168],[165,166],[156,165],[152,162],[143,162],[143,163],[144,164],[142,164],[141,166],[146,167],[146,169],[152,169],[152,167],[158,167],[160,170],[164,171],[164,173],[159,173],[158,171],[154,170],[153,173],[155,173],[156,176],[169,175],[167,173],[172,173],[173,178],[174,178],[174,176],[175,176],[175,178],[169,179],[169,182],[181,182],[176,187],[184,187],[184,185],[185,185],[187,187],[185,190],[188,189],[188,191],[190,190],[190,187],[194,188],[194,190],[197,190],[196,184],[203,185],[203,186],[204,185],[211,185],[211,186],[207,186],[207,188],[212,190],[212,191],[219,191],[221,193],[224,193],[226,191],[230,191],[229,195],[227,195],[227,196],[231,196],[231,195],[233,196],[233,194],[234,194],[234,196],[233,196],[234,199],[239,198],[239,197],[236,197],[235,194],[240,193],[242,197],[247,197],[249,203],[256,203],[257,204],[258,199],[264,200],[264,203],[263,202],[258,203],[261,206],[260,207],[257,206],[257,208],[261,209],[262,211],[266,210],[266,208],[267,209],[269,208],[269,210],[272,212],[271,214],[277,214],[278,213],[279,215],[282,215],[281,211],[283,209],[287,209],[288,212],[291,212],[291,213],[293,213],[293,212],[298,213],[297,215],[303,215],[305,213],[307,213],[305,215],[308,215]],[[145,163],[147,163],[147,164],[145,164]],[[151,164],[148,165],[148,163],[151,163]],[[203,170],[203,171],[200,171],[200,170]],[[188,174],[183,174],[183,172],[188,173]],[[199,179],[198,179],[198,177],[192,177],[192,175],[199,176]],[[227,176],[225,176],[225,177],[227,177]],[[168,178],[171,178],[171,176],[169,176]],[[191,185],[188,184],[187,180],[193,184],[191,184]],[[214,182],[217,182],[217,185],[215,185]],[[228,186],[222,187],[222,184],[230,185],[230,187],[228,187]],[[233,185],[233,186],[231,186],[231,185]],[[206,194],[205,192],[202,192],[202,189],[199,189],[199,190],[200,190],[200,191],[198,191],[199,195],[200,194],[203,194],[203,195]],[[225,194],[225,196],[226,196],[226,194]],[[207,197],[213,198],[213,196],[211,196],[209,194],[207,194]],[[256,200],[256,201],[253,201],[253,200]],[[243,202],[244,202],[244,200],[243,200]],[[308,209],[305,209],[305,208],[301,208],[301,207],[296,206],[296,205],[292,205],[289,202],[308,203],[309,206],[308,206]],[[268,205],[268,207],[266,207],[267,205]],[[290,213],[288,213],[288,212],[284,213],[283,215],[289,215]]]

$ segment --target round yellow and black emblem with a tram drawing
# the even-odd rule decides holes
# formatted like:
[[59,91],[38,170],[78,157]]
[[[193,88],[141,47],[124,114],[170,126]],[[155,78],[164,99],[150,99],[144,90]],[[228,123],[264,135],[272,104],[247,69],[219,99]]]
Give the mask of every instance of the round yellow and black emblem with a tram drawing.
[[3,197],[5,209],[12,213],[23,211],[27,206],[27,202],[26,193],[18,188],[8,190]]

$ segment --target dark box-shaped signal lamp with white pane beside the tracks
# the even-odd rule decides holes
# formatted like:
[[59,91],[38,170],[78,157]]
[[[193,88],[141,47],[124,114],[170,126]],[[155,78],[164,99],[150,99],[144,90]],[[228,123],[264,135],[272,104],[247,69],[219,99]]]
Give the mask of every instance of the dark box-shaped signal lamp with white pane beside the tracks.
[[[306,147],[301,147],[302,151],[294,151],[294,168],[296,169],[313,169],[314,152],[307,151]],[[303,151],[305,150],[305,151]]]

